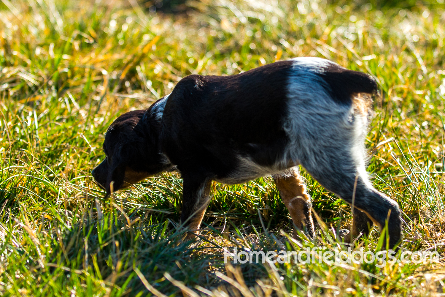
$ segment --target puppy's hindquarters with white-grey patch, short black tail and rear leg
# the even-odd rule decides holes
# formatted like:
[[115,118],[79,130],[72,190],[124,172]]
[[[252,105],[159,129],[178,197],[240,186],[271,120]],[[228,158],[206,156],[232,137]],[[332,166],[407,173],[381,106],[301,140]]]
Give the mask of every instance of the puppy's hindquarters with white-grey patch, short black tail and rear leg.
[[372,187],[365,167],[371,99],[362,94],[376,94],[376,82],[368,74],[327,60],[294,61],[284,124],[291,137],[288,156],[327,190],[353,205],[349,236],[367,233],[373,222],[383,228],[389,218],[389,244],[394,246],[401,236],[400,210],[395,201]]

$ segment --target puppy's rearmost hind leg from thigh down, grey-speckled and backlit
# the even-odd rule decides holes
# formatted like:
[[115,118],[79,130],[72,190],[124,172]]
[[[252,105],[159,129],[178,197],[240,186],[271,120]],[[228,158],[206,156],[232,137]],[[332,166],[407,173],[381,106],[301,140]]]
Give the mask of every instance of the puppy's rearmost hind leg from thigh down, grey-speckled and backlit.
[[348,152],[348,146],[325,147],[322,151],[316,151],[317,147],[320,148],[312,146],[312,152],[306,150],[310,154],[303,156],[300,163],[323,187],[360,211],[354,216],[351,235],[346,240],[351,240],[360,232],[368,232],[369,220],[380,229],[388,221],[389,248],[393,248],[401,238],[401,212],[398,204],[372,187],[364,161],[357,160],[357,154],[352,151]]

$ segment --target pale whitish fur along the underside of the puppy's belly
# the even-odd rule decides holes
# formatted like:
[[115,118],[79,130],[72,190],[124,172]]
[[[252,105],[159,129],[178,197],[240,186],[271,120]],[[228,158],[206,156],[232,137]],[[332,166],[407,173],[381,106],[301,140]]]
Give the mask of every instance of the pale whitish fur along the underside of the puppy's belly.
[[216,175],[213,180],[226,184],[247,183],[259,177],[279,174],[295,165],[292,161],[283,160],[272,166],[261,166],[249,157],[239,157],[239,163],[233,171],[227,175]]

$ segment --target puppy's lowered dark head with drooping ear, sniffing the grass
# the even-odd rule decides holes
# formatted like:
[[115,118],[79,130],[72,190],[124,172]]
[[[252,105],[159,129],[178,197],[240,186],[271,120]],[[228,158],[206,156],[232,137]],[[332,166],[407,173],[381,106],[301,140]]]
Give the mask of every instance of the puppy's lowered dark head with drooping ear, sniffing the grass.
[[159,127],[150,109],[127,112],[109,126],[103,144],[105,160],[92,171],[107,196],[171,167],[159,150]]

